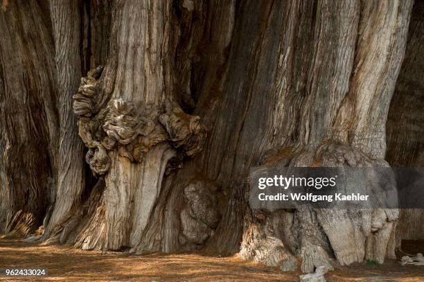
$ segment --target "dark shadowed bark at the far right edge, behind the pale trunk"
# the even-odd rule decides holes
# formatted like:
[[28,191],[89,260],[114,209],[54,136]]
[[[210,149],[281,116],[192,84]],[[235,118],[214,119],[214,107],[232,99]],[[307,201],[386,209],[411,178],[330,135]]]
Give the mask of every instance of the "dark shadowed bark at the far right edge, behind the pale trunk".
[[[416,1],[409,24],[405,60],[396,82],[387,119],[387,154],[391,166],[424,166],[424,3]],[[400,212],[398,238],[424,238],[424,211]]]

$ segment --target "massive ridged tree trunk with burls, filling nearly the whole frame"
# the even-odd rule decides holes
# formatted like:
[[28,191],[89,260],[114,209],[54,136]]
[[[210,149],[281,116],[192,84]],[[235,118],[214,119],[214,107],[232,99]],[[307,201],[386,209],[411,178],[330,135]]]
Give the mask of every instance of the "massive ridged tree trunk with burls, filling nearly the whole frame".
[[394,256],[398,210],[258,213],[246,178],[389,165],[412,1],[18,2],[0,12],[1,231],[44,219],[45,243],[305,272]]

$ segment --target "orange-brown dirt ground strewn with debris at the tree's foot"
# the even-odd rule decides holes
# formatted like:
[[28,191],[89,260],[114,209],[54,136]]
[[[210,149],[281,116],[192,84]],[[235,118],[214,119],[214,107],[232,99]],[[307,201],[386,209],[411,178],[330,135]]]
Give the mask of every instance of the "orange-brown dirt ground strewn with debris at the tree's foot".
[[[403,252],[424,253],[424,242],[403,242]],[[400,256],[403,254],[399,254]],[[0,239],[0,270],[5,267],[45,267],[43,281],[299,281],[300,272],[242,261],[238,256],[149,254],[82,251],[69,246],[42,246],[19,239]],[[3,281],[24,281],[0,277]],[[341,267],[327,281],[424,281],[424,267],[366,263]],[[37,281],[26,279],[25,281]]]

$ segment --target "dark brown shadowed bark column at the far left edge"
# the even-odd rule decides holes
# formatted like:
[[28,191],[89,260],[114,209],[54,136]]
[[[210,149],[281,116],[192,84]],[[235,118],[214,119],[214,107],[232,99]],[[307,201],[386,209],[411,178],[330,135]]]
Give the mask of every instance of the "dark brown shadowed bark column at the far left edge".
[[0,231],[33,233],[57,183],[59,136],[48,7],[10,1],[0,12]]

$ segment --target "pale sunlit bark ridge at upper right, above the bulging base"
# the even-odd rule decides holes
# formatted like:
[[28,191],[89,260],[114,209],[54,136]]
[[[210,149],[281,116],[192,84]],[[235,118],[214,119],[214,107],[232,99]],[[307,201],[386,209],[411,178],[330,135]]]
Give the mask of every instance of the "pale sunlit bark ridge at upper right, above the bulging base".
[[[405,43],[411,1],[362,3],[351,89],[336,134],[366,154],[385,156],[385,121]],[[351,114],[357,113],[351,121]],[[351,128],[347,130],[347,128]]]

